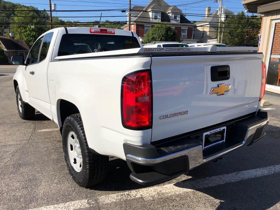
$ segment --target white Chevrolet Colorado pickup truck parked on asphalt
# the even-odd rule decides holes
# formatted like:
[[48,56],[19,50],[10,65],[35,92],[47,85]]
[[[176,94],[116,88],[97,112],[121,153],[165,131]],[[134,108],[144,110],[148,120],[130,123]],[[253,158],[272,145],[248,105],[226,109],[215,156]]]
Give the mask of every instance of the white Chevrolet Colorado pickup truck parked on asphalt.
[[262,53],[250,47],[142,48],[134,32],[55,28],[18,64],[22,119],[60,128],[78,185],[104,180],[109,156],[143,185],[186,174],[265,135]]

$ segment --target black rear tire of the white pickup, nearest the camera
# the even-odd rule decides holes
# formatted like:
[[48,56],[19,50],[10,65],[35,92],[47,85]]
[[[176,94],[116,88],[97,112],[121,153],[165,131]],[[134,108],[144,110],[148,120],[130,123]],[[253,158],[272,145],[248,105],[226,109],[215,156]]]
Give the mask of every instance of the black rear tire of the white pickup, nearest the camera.
[[[82,169],[80,172],[73,168],[68,154],[67,139],[71,131],[76,134],[81,148]],[[62,128],[62,146],[68,171],[78,185],[89,188],[104,180],[107,174],[109,157],[97,155],[89,150],[81,114],[73,114],[65,119]],[[73,147],[71,150],[73,150]]]

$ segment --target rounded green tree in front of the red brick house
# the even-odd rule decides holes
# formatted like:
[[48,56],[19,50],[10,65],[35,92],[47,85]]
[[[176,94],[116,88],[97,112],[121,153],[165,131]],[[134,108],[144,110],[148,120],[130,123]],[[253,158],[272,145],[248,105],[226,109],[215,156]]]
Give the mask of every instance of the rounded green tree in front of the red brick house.
[[156,24],[144,36],[143,43],[153,41],[180,41],[176,36],[176,31],[167,24]]

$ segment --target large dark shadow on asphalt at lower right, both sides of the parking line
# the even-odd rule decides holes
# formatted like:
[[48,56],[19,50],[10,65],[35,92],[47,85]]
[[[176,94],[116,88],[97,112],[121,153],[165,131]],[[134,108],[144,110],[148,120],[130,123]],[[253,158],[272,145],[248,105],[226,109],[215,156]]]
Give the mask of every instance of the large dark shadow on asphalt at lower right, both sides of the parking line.
[[[278,136],[280,127],[267,125],[265,132],[267,133],[266,136],[259,142],[225,156],[219,166],[214,167],[216,163],[206,163],[189,172],[188,175],[192,178],[177,182],[174,185],[180,188],[193,189],[206,194],[207,197],[211,196],[221,200],[220,205],[216,208],[218,210],[271,208],[280,201],[280,174],[277,172],[257,178],[248,177],[248,179],[241,181],[228,180],[225,184],[212,187],[201,187],[201,185],[207,186],[207,182],[209,182],[209,185],[212,184],[207,177],[278,165],[280,159],[276,148],[280,146]],[[234,160],[234,157],[236,160]],[[224,169],[225,172],[221,172]],[[198,179],[201,178],[206,179],[199,181]],[[238,179],[238,177],[236,178]]]

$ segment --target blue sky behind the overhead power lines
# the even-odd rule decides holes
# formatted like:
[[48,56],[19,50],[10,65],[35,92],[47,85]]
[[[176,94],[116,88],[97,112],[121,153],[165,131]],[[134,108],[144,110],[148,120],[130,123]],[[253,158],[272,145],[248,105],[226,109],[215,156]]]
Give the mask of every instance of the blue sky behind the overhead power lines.
[[[23,5],[32,5],[37,7],[39,10],[49,9],[48,0],[37,0],[37,3],[32,3],[34,0],[11,0],[13,3],[20,3]],[[127,9],[128,0],[52,0],[51,2],[57,5],[57,10],[101,10],[101,9]],[[131,0],[132,7],[134,5],[145,6],[150,0]],[[205,7],[211,6],[211,12],[218,8],[218,3],[214,0],[166,0],[169,5],[176,5],[179,7],[183,13],[195,13],[195,14],[205,14]],[[186,5],[187,4],[187,5]],[[244,11],[244,8],[239,0],[223,0],[223,5],[227,9],[237,13],[239,11]],[[70,16],[69,18],[61,18],[63,20],[73,20],[73,21],[94,21],[99,20],[99,18],[73,18],[72,16],[99,16],[100,11],[94,12],[53,12],[53,16]],[[103,11],[102,16],[125,16],[125,13],[121,11]],[[250,14],[248,14],[250,15]],[[198,21],[203,17],[186,15],[190,21]],[[110,21],[124,21],[126,17],[104,17],[101,21],[106,19]]]

